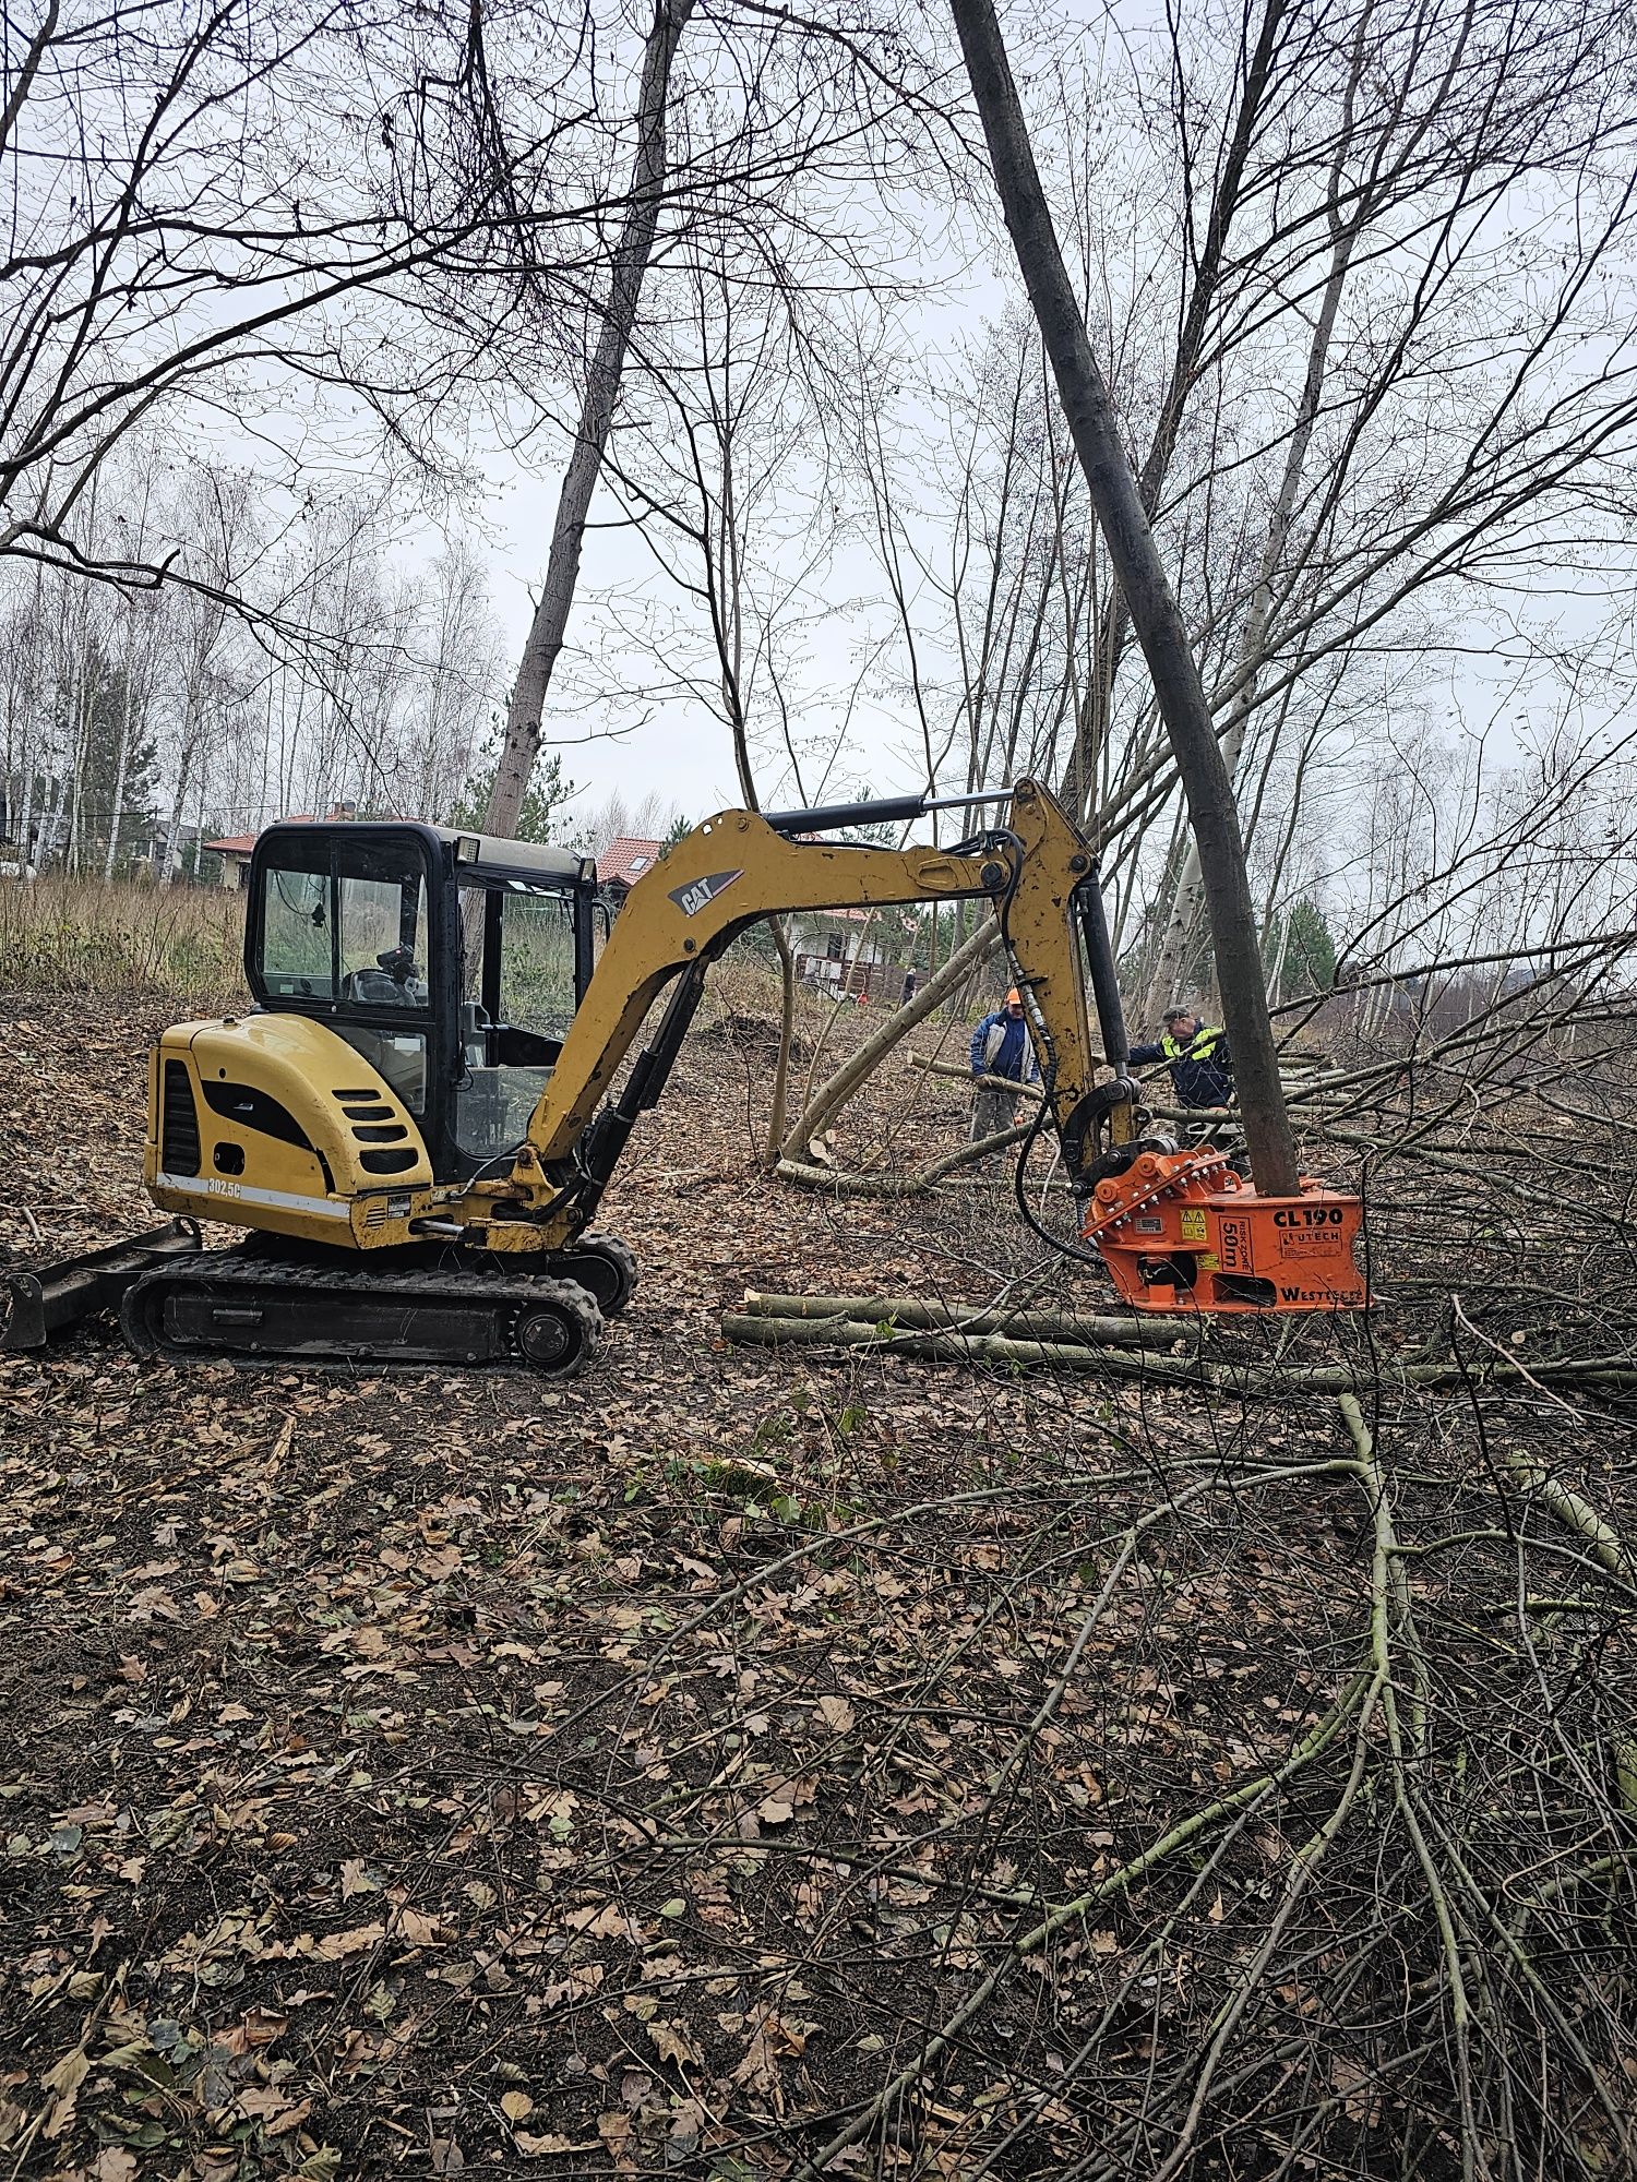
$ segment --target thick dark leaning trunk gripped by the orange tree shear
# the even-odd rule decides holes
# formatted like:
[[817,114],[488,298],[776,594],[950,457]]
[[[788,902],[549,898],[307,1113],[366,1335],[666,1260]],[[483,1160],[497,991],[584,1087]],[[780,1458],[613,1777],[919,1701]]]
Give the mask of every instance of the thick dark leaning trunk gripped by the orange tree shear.
[[1297,1191],[1297,1148],[1279,1087],[1279,1056],[1268,1021],[1268,995],[1262,984],[1257,919],[1244,871],[1233,783],[1216,742],[1187,628],[1155,550],[1137,478],[1126,460],[1120,421],[1063,268],[1063,253],[1035,170],[995,9],[991,0],[952,0],[952,9],[989,142],[995,188],[1017,249],[1017,264],[1039,319],[1045,353],[1052,358],[1052,373],[1074,449],[1085,469],[1091,506],[1109,541],[1109,559],[1126,596],[1131,626],[1148,661],[1176,772],[1187,796],[1251,1165],[1266,1196],[1292,1196]]

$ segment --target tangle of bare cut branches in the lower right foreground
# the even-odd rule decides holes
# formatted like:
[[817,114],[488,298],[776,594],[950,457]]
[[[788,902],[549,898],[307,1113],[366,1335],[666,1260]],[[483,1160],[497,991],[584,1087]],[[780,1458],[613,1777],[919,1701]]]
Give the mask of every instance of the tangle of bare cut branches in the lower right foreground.
[[[1417,1475],[1432,1449],[1406,1444],[1410,1418],[1388,1464],[1351,1396],[1342,1414],[1347,1453],[1183,1460],[1109,1540],[1011,1759],[1021,1791],[1037,1737],[1059,1763],[1065,1733],[1080,1746],[1104,1820],[1080,1839],[1098,1853],[1063,1842],[1078,1883],[1017,1903],[984,1975],[803,2173],[901,2121],[973,2049],[1004,2053],[1035,1964],[1054,1997],[1048,2062],[1021,2097],[1006,2084],[1004,2125],[971,2117],[960,2173],[1008,2171],[1024,2147],[1039,2160],[1041,2134],[1052,2171],[1083,2182],[1630,2169],[1630,1556],[1530,1464]],[[1200,1765],[1179,1735],[1172,1763],[1122,1778],[1126,1722],[1087,1671],[1115,1602],[1144,1588],[1144,1560],[1187,1597],[1272,1545],[1297,1595],[1277,1617],[1253,1604],[1268,1656],[1227,1674],[1288,1722],[1281,1754],[1244,1763],[1220,1663],[1152,1597],[1155,1709],[1190,1726],[1207,1711],[1222,1741]],[[982,1855],[945,1887],[956,1920],[1000,1892]]]

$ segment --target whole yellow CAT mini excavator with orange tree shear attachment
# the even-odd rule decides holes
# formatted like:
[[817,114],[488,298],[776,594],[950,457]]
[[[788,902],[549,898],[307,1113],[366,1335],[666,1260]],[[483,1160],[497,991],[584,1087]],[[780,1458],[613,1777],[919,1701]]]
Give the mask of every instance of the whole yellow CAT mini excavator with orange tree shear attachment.
[[[1096,864],[1043,788],[1021,781],[1004,823],[952,849],[825,838],[932,807],[707,818],[631,886],[600,954],[596,871],[563,849],[408,823],[268,827],[244,930],[255,1006],[179,1023],[151,1056],[144,1180],[179,1220],[13,1274],[11,1344],[118,1303],[140,1355],[570,1375],[637,1279],[594,1228],[602,1191],[729,940],[779,912],[969,899],[1000,914],[1041,1126],[1120,1294],[1362,1305],[1355,1198],[1316,1183],[1259,1198],[1220,1152],[1139,1132]],[[251,1233],[205,1250],[201,1220]]]

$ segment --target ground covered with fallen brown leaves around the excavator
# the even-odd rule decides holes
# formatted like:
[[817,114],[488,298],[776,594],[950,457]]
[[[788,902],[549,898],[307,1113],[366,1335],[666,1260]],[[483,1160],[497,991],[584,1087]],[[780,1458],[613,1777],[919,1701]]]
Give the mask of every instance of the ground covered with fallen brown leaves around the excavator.
[[[11,1004],[17,1261],[151,1218],[166,1019]],[[746,1287],[982,1303],[1039,1255],[1002,1183],[764,1180],[764,1074],[690,1043],[607,1202],[642,1285],[563,1388],[183,1372],[105,1329],[2,1368],[15,2178],[1063,2173],[1107,2121],[1087,2036],[1142,2075],[1220,2003],[1301,1794],[1148,1922],[1122,1885],[1019,1935],[1334,1702],[1358,1492],[1115,1558],[1174,1471],[1334,1455],[1334,1412],[725,1346]],[[960,1126],[923,1089],[925,1148]]]

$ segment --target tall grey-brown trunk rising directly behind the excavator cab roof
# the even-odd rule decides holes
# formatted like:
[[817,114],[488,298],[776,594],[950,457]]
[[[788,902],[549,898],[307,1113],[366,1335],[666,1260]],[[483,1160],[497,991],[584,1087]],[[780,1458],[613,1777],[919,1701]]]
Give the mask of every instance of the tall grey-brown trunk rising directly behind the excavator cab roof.
[[585,382],[574,454],[570,456],[563,491],[557,502],[552,543],[546,559],[546,583],[528,628],[511,703],[506,705],[506,738],[500,748],[495,786],[489,790],[489,810],[485,816],[485,831],[489,834],[515,834],[517,814],[524,807],[535,759],[539,757],[541,714],[546,711],[552,670],[563,650],[567,613],[574,604],[581,546],[585,543],[585,517],[592,508],[598,471],[602,469],[602,452],[609,443],[609,428],[613,425],[613,410],[620,399],[620,373],[624,371],[631,345],[631,327],[637,316],[637,299],[644,273],[648,271],[655,227],[659,225],[659,199],[666,181],[670,63],[677,57],[677,44],[692,11],[694,0],[657,0],[644,48],[631,205],[613,253],[609,305]]

